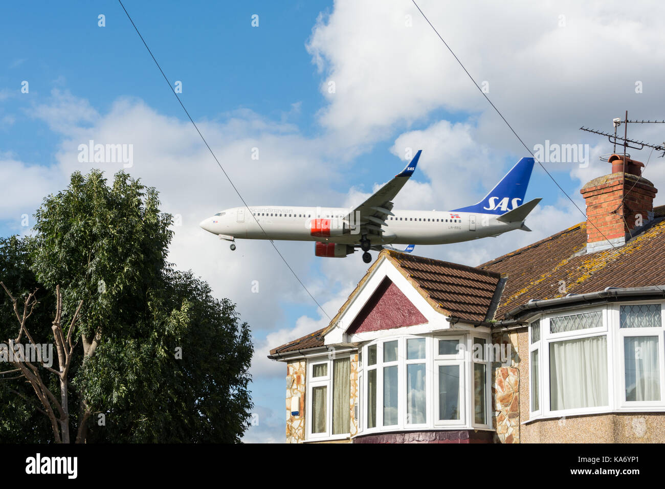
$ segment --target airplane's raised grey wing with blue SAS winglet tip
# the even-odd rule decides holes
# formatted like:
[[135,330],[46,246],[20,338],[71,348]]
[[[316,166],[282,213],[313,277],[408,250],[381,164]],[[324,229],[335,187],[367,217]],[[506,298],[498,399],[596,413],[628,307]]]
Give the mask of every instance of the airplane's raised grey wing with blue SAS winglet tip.
[[360,206],[351,210],[348,216],[346,216],[352,226],[360,226],[360,236],[363,234],[382,236],[384,232],[383,226],[386,226],[386,219],[388,216],[394,215],[390,212],[393,206],[392,200],[402,190],[402,187],[411,178],[413,172],[416,171],[416,165],[418,164],[421,152],[422,150],[418,150],[414,159],[406,165],[404,170],[396,174],[390,182],[374,192],[374,195],[360,204]]

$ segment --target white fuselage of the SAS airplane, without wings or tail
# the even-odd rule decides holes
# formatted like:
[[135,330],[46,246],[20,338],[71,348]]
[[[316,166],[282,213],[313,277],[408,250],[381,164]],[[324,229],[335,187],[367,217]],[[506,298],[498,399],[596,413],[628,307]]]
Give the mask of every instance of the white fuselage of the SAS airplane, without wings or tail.
[[[201,222],[201,228],[228,238],[248,240],[313,241],[358,244],[360,226],[340,236],[313,236],[317,219],[342,220],[348,208],[253,206],[231,208]],[[372,244],[434,245],[458,243],[519,229],[521,222],[506,223],[496,214],[392,210],[386,218],[382,238],[372,237]],[[335,221],[333,221],[335,222]],[[354,224],[354,223],[351,223]],[[360,223],[364,224],[364,223]],[[348,228],[348,222],[346,222]],[[333,226],[334,227],[334,226]]]

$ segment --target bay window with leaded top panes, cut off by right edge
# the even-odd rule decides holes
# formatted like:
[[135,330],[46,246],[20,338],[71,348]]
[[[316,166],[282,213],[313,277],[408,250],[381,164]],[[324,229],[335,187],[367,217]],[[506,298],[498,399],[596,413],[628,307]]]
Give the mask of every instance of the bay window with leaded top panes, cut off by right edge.
[[665,410],[660,303],[620,303],[529,325],[530,416]]

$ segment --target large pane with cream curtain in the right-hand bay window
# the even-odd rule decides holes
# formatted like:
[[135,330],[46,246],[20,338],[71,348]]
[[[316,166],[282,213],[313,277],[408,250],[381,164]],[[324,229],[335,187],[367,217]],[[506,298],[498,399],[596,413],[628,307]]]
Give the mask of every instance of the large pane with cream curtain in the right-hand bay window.
[[549,344],[552,410],[607,405],[607,340],[603,336]]

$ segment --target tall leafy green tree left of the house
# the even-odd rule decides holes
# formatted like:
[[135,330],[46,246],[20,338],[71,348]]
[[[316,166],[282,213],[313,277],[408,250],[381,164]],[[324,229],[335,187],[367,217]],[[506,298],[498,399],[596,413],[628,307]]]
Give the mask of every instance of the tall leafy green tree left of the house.
[[[228,299],[166,261],[171,216],[124,172],[72,174],[29,242],[34,279],[82,303],[70,412],[87,442],[237,442],[253,407],[249,328]],[[33,318],[35,319],[35,318]]]

